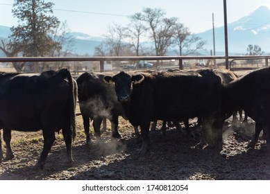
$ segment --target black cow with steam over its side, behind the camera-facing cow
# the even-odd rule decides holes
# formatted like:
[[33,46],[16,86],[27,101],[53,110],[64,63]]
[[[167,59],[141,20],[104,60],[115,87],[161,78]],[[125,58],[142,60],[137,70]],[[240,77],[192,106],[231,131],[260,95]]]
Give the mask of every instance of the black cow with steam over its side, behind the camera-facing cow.
[[[117,101],[114,86],[104,82],[103,77],[103,74],[85,72],[76,80],[87,146],[90,146],[91,143],[89,133],[90,119],[93,121],[94,133],[99,140],[101,138],[100,127],[103,118],[110,120],[112,137],[114,138],[121,137],[118,132],[118,117],[126,118],[124,116],[124,109]],[[135,129],[135,133],[138,135],[139,132],[137,128]]]

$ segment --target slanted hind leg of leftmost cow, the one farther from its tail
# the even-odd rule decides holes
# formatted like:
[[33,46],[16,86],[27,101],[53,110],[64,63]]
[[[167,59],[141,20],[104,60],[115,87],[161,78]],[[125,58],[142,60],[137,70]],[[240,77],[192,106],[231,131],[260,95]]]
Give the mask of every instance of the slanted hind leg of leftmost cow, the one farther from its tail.
[[56,135],[54,134],[53,130],[44,129],[42,130],[42,134],[44,138],[43,149],[40,155],[40,159],[38,159],[37,164],[35,165],[37,168],[44,168],[45,161],[51,150],[51,146],[56,140]]

